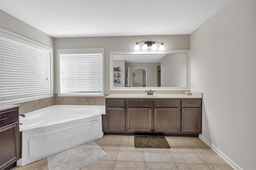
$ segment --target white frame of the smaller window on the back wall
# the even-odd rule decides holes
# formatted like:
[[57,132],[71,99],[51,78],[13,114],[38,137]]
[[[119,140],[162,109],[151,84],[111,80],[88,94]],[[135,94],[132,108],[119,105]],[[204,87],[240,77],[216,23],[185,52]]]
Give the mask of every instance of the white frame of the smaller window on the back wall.
[[[68,53],[97,53],[102,51],[102,94],[61,94],[60,93],[60,54]],[[104,48],[75,48],[75,49],[57,49],[57,65],[58,65],[58,96],[60,97],[104,97],[105,96],[105,69],[104,69]]]

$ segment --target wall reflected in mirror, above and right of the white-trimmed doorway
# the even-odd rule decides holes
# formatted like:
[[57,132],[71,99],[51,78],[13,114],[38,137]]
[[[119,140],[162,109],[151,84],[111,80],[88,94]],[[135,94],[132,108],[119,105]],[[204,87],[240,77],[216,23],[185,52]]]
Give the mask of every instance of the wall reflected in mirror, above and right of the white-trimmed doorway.
[[126,70],[128,67],[145,67],[147,68],[148,83],[147,87],[157,87],[157,66],[160,63],[126,63]]

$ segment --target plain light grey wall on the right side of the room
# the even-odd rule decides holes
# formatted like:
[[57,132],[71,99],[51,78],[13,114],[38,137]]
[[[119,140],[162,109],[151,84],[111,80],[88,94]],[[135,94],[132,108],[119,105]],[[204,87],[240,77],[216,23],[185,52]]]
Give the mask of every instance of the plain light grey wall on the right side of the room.
[[230,1],[190,35],[192,91],[203,92],[202,135],[233,167],[256,146],[255,1]]

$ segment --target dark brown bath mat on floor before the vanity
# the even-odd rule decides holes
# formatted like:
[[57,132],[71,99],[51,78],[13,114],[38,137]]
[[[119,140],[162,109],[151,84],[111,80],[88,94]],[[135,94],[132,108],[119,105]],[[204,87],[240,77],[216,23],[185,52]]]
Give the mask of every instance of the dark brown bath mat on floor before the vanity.
[[134,136],[135,148],[171,148],[164,136]]

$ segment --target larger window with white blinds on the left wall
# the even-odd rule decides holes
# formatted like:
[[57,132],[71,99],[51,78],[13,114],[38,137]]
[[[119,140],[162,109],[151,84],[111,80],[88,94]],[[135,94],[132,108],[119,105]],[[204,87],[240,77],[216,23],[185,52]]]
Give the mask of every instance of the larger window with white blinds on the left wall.
[[52,97],[51,61],[52,48],[0,31],[0,103]]

